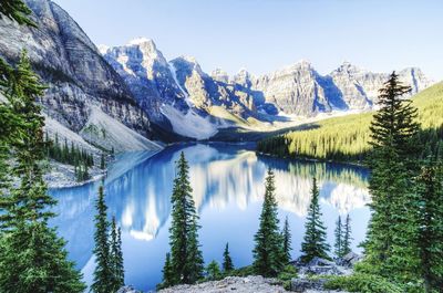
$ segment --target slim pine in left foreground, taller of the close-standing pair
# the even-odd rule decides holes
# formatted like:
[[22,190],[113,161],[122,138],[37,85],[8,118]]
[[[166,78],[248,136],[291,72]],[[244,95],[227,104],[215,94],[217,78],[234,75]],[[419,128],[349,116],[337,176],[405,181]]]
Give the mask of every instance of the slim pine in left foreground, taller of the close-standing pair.
[[94,281],[91,286],[94,293],[109,293],[112,292],[112,261],[109,243],[109,221],[106,219],[106,203],[104,201],[103,186],[99,188],[99,197],[95,201],[95,231],[94,231],[94,254],[95,254],[95,270]]

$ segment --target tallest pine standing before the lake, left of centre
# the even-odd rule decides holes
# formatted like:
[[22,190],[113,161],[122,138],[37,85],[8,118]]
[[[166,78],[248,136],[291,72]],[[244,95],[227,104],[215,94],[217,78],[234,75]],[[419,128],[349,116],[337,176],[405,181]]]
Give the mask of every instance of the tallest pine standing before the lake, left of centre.
[[172,224],[169,228],[173,284],[195,283],[203,276],[203,257],[198,244],[198,216],[192,197],[188,165],[184,153],[177,161],[177,176],[172,195]]

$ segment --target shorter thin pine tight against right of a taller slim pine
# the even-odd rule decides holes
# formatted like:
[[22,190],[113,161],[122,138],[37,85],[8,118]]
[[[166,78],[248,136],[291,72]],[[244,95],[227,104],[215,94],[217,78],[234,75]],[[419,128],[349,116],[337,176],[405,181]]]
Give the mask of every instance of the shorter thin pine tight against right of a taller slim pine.
[[122,231],[116,226],[115,217],[111,221],[110,266],[112,270],[112,292],[124,286],[124,266],[122,252]]

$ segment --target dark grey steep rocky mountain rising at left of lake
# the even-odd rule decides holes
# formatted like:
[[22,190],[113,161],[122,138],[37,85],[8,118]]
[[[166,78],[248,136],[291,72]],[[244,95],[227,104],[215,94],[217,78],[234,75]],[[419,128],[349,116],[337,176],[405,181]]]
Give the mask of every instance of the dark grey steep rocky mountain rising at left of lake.
[[[132,91],[79,24],[52,1],[25,3],[38,29],[0,19],[0,56],[16,63],[21,50],[28,51],[34,71],[49,86],[40,100],[44,114],[51,118],[47,132],[54,135],[68,129],[80,134],[94,150],[95,146],[115,150],[158,148],[146,139],[152,135],[150,121]],[[104,137],[115,133],[112,127],[141,144],[131,146],[123,140],[125,136],[116,136],[110,143]],[[70,138],[73,134],[61,135]]]

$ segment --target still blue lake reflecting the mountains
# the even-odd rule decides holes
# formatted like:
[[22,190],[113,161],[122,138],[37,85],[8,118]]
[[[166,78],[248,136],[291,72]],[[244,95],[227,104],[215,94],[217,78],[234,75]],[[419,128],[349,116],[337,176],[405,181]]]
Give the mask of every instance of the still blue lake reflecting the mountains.
[[[288,217],[292,232],[292,258],[300,255],[303,222],[310,202],[312,177],[320,187],[323,221],[333,244],[339,214],[351,217],[353,249],[364,239],[370,217],[365,206],[369,171],[361,167],[277,159],[257,155],[248,144],[183,144],[157,154],[120,155],[104,180],[109,214],[122,228],[125,282],[138,290],[152,290],[162,280],[168,252],[171,193],[175,161],[181,151],[189,163],[193,196],[200,216],[199,241],[205,262],[222,262],[226,242],[234,264],[251,263],[254,234],[258,229],[266,171],[276,175],[280,224]],[[76,262],[86,283],[92,281],[94,201],[99,182],[52,189],[59,201],[51,221],[68,240],[70,259]]]

